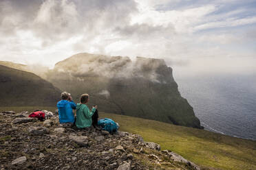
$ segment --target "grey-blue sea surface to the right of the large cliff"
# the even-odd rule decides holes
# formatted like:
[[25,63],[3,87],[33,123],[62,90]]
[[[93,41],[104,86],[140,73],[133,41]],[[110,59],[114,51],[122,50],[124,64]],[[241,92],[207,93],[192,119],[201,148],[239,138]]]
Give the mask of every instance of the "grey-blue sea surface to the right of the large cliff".
[[256,140],[256,73],[173,76],[205,130]]

